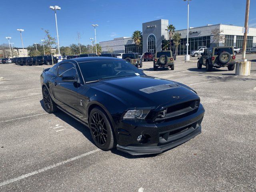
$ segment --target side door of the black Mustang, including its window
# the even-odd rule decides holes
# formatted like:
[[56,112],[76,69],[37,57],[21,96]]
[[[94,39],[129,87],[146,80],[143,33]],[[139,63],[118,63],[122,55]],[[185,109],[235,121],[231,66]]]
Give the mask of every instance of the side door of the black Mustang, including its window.
[[[63,77],[74,76],[78,82],[67,82]],[[53,92],[57,100],[57,104],[64,110],[70,112],[74,116],[77,115],[77,92],[78,92],[79,78],[76,67],[71,62],[60,64],[58,68],[58,75],[54,79]]]

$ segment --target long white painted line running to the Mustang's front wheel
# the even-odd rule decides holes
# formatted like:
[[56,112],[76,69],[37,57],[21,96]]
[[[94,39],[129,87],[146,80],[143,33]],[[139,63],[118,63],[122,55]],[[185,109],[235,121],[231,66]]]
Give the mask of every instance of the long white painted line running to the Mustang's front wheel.
[[35,175],[35,174],[38,174],[38,173],[40,173],[40,172],[47,171],[47,170],[49,170],[49,169],[52,169],[52,168],[54,168],[54,167],[57,167],[57,166],[66,164],[66,163],[68,163],[68,162],[71,162],[71,161],[80,159],[80,158],[82,158],[82,157],[88,156],[88,155],[93,154],[93,153],[98,152],[98,151],[100,151],[100,149],[96,149],[96,150],[93,150],[93,151],[84,153],[84,154],[82,154],[82,155],[79,155],[79,156],[70,158],[70,159],[68,159],[68,160],[65,160],[65,161],[62,161],[62,162],[59,162],[59,163],[50,165],[50,166],[48,166],[48,167],[45,167],[45,168],[42,168],[42,169],[39,169],[39,170],[30,172],[30,173],[27,173],[27,174],[24,174],[24,175],[22,175],[22,176],[19,176],[19,177],[16,177],[16,178],[13,178],[13,179],[4,181],[4,182],[0,183],[0,187],[1,187],[1,186],[4,186],[4,185],[7,185],[7,184],[10,184],[10,183],[13,183],[13,182],[16,182],[16,181],[18,181],[18,180],[22,180],[22,179],[24,179],[24,178],[30,177],[30,176]]

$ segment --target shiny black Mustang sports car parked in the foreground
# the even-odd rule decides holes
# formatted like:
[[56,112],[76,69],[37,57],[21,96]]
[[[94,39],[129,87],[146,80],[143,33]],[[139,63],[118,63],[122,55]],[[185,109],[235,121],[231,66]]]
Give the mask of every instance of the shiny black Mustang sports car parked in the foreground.
[[102,150],[161,153],[201,132],[204,108],[194,90],[119,58],[64,60],[40,79],[45,110],[60,109],[88,126]]

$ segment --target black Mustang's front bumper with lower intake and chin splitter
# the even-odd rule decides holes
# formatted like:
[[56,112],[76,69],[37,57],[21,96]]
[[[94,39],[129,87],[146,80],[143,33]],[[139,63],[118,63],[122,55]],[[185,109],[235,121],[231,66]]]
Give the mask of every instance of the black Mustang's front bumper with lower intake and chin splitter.
[[[204,108],[188,116],[155,124],[129,124],[124,122],[118,129],[117,149],[132,155],[157,154],[174,148],[201,133]],[[149,136],[147,142],[139,143],[139,135]]]

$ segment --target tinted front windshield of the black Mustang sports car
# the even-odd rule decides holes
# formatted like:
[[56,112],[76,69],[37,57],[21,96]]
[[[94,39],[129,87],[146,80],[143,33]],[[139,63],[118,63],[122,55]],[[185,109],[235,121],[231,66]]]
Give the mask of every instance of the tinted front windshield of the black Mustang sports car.
[[144,75],[141,70],[123,60],[82,62],[79,63],[79,67],[86,82],[112,79],[122,76]]

